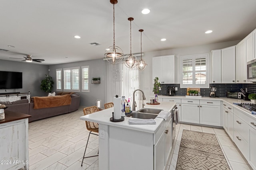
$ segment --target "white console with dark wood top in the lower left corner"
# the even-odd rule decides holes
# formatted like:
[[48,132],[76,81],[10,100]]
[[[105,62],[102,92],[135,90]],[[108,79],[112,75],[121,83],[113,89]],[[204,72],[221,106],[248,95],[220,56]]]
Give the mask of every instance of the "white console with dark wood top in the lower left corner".
[[29,169],[28,117],[23,113],[5,111],[0,120],[0,169]]

